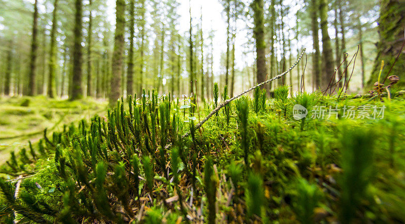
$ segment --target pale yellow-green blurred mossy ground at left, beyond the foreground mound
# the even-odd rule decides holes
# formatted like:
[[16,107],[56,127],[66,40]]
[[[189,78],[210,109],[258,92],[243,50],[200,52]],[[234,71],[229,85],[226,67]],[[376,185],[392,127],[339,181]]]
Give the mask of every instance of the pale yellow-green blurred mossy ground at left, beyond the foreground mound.
[[37,142],[44,129],[61,131],[64,125],[94,114],[104,114],[107,103],[94,99],[70,102],[44,96],[0,99],[0,164],[10,157],[10,151],[28,147],[28,140]]

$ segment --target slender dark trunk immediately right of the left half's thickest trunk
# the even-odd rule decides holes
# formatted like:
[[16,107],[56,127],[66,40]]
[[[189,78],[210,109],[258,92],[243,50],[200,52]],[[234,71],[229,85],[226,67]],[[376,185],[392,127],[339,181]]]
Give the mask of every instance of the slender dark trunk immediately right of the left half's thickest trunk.
[[134,94],[134,38],[135,38],[135,0],[130,1],[130,49],[128,51],[127,95]]

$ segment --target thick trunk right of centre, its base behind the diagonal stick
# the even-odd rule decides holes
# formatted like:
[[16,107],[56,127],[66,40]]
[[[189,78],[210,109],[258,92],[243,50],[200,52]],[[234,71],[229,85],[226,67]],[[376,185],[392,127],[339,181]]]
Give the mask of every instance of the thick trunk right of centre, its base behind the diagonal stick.
[[[257,83],[264,82],[266,79],[266,42],[264,41],[264,12],[263,12],[263,0],[254,0],[251,7],[254,12],[254,24],[253,30],[256,39],[256,81]],[[265,86],[262,86],[265,88]]]

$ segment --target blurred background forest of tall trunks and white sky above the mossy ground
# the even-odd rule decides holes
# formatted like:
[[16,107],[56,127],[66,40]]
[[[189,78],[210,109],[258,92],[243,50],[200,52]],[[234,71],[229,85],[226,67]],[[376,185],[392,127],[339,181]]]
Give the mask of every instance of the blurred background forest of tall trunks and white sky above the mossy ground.
[[387,70],[396,58],[404,11],[392,0],[0,0],[0,93],[115,102],[142,88],[176,97],[195,86],[204,99],[218,82],[232,96],[290,67],[303,48],[269,91],[288,84],[295,93],[305,74],[306,91],[334,78],[358,93],[385,56]]

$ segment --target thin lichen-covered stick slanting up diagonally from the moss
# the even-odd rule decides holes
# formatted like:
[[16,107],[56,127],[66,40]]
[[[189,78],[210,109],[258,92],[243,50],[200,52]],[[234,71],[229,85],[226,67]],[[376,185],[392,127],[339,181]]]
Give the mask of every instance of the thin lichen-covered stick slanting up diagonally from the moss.
[[[235,99],[241,97],[242,95],[245,95],[246,93],[251,92],[253,89],[255,89],[255,88],[257,88],[257,87],[260,87],[260,86],[262,86],[262,85],[264,85],[264,84],[266,84],[266,83],[269,83],[269,82],[271,82],[271,81],[274,81],[275,79],[279,79],[279,78],[281,78],[282,76],[284,76],[284,75],[286,75],[287,73],[289,73],[289,72],[290,72],[291,70],[293,70],[293,68],[295,68],[295,66],[297,66],[297,64],[301,61],[301,58],[302,58],[302,56],[304,55],[305,50],[306,50],[306,49],[304,48],[304,49],[302,50],[300,56],[297,58],[297,61],[295,61],[295,63],[294,63],[289,69],[287,69],[285,72],[283,72],[283,73],[281,73],[281,74],[279,74],[279,75],[277,75],[277,76],[275,76],[275,77],[273,77],[273,78],[271,78],[271,79],[269,79],[269,80],[267,80],[267,81],[264,81],[264,82],[262,82],[262,83],[259,83],[259,84],[255,85],[255,86],[253,86],[253,87],[247,89],[246,91],[240,93],[239,95],[237,95],[237,96],[235,96],[235,97],[232,97],[231,99],[228,99],[228,100],[224,101],[222,104],[218,105],[217,108],[215,108],[213,111],[211,111],[211,113],[210,113],[206,118],[204,118],[204,120],[202,120],[201,122],[199,122],[198,124],[196,124],[196,125],[195,125],[195,129],[197,130],[197,129],[199,129],[201,126],[203,126],[203,124],[204,124],[207,120],[209,120],[216,112],[218,112],[221,108],[225,107],[225,106],[226,106],[227,104],[229,104],[231,101],[233,101],[233,100],[235,100]],[[189,136],[189,135],[190,135],[190,131],[186,132],[181,138],[186,138],[186,137]],[[165,148],[168,149],[168,148],[170,148],[171,146],[172,146],[172,143],[168,144]]]

